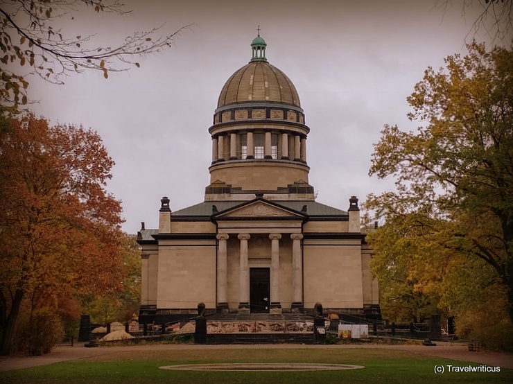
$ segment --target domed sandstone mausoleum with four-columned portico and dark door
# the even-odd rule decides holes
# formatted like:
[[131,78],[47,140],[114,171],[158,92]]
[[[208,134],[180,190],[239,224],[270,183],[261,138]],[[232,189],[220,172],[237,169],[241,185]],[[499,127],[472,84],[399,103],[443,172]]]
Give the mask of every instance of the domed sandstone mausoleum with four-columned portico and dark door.
[[[141,317],[168,322],[207,313],[376,313],[372,252],[358,199],[347,211],[315,201],[308,183],[310,128],[293,82],[268,62],[260,35],[252,57],[220,91],[209,128],[205,200],[172,211],[137,234]],[[315,134],[315,128],[313,130]]]

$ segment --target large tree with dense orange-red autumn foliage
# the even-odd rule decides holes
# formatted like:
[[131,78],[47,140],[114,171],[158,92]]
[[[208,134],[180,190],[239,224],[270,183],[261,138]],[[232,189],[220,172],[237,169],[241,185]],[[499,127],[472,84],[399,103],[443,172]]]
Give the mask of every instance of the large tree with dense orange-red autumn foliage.
[[0,299],[9,354],[21,308],[119,290],[121,205],[105,190],[114,162],[101,137],[0,114]]

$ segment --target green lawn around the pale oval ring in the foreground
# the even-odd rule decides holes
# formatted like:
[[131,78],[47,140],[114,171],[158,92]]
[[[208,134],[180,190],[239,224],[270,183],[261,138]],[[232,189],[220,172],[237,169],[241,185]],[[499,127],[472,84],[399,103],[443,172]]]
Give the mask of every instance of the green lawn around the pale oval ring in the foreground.
[[[158,369],[187,363],[339,363],[364,369],[332,372],[182,372]],[[209,349],[121,351],[96,358],[0,372],[0,383],[512,383],[513,370],[445,372],[435,365],[478,366],[384,349]]]

